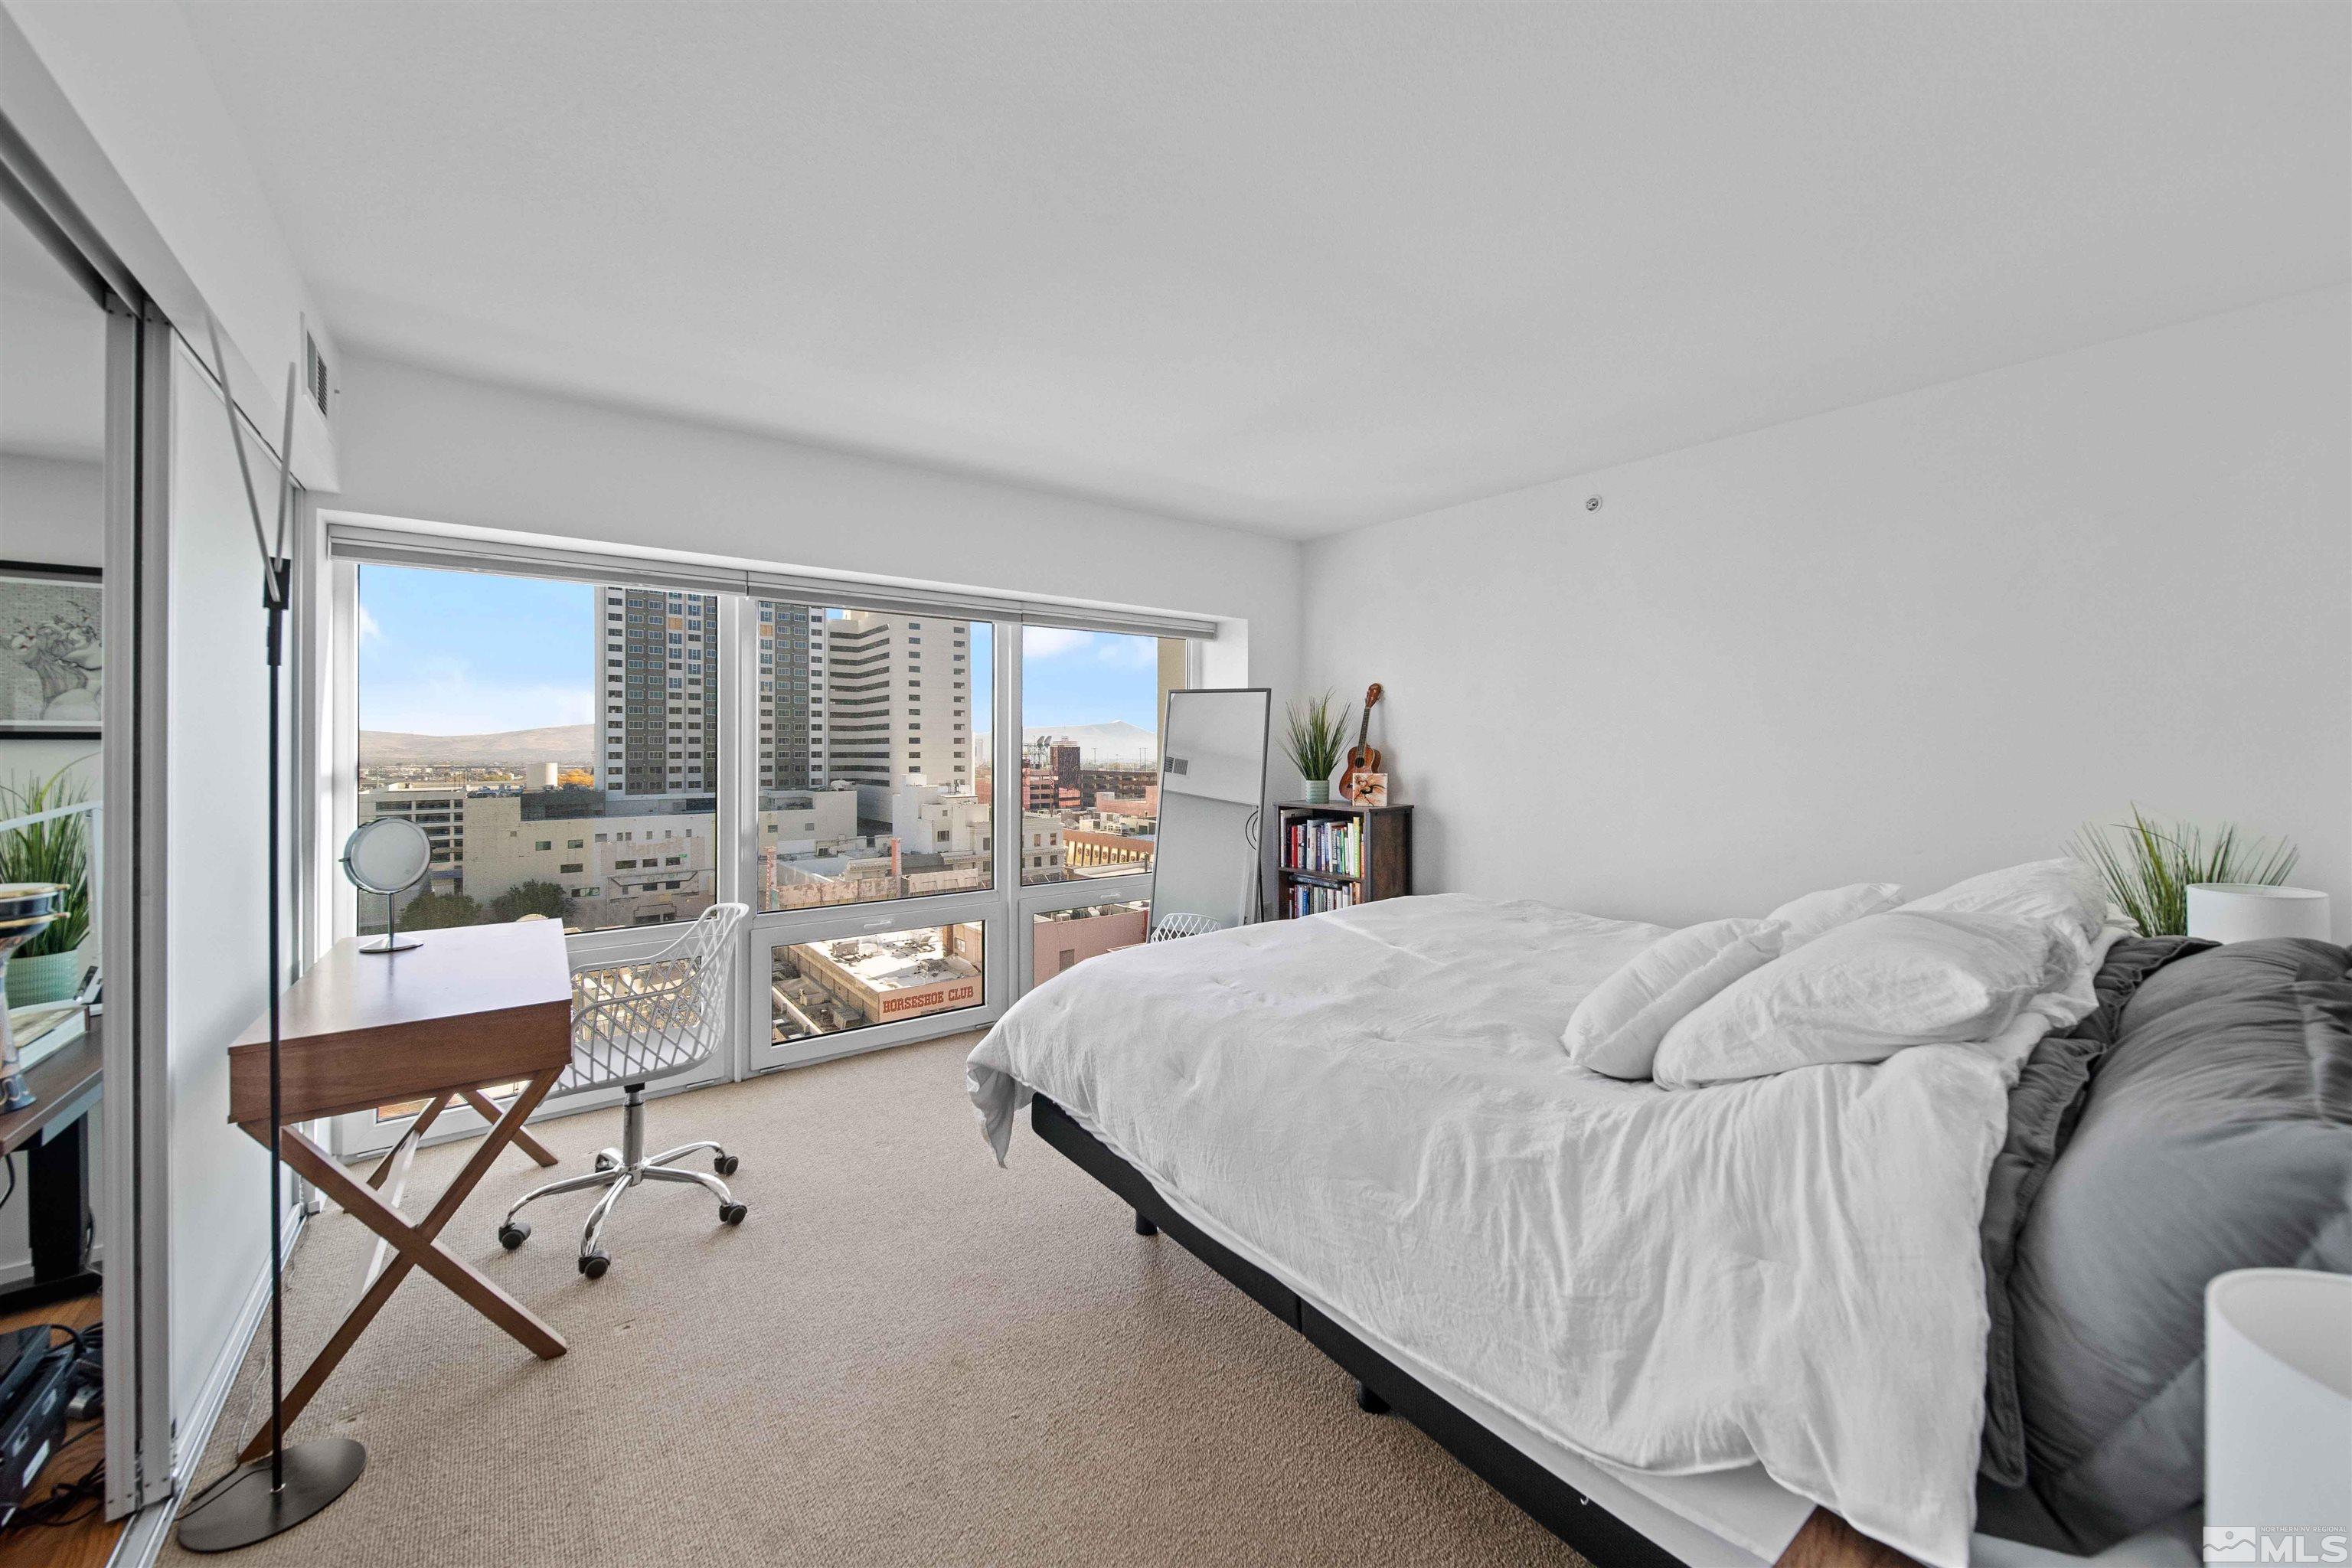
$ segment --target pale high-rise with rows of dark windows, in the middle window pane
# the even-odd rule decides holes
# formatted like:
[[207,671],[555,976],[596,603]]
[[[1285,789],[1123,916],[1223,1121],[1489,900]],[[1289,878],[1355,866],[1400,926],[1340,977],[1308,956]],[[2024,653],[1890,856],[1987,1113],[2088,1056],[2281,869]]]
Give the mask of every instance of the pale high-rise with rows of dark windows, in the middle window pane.
[[851,611],[826,621],[826,773],[971,788],[971,625]]

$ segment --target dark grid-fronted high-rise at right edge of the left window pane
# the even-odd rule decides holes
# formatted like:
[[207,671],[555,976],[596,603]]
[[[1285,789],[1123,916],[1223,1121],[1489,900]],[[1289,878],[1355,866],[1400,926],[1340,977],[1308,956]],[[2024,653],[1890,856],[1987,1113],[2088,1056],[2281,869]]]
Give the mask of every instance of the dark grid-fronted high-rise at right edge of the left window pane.
[[600,585],[602,755],[612,795],[720,783],[720,602],[706,592]]

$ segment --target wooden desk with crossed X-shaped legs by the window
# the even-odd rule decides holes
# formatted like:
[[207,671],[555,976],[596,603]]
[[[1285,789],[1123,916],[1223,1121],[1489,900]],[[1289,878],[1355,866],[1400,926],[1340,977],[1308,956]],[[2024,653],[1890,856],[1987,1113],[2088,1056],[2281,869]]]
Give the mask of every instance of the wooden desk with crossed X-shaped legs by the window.
[[[564,931],[550,919],[534,919],[402,936],[414,936],[421,945],[412,952],[367,954],[358,938],[336,943],[280,999],[278,1121],[285,1161],[381,1237],[360,1281],[360,1300],[287,1389],[287,1422],[350,1354],[409,1269],[423,1269],[449,1286],[532,1354],[564,1354],[553,1328],[437,1241],[508,1143],[543,1166],[555,1164],[522,1131],[522,1121],[572,1063],[572,964],[564,957]],[[501,1114],[485,1088],[513,1081],[522,1084],[522,1093]],[[426,1107],[365,1182],[292,1126],[402,1100],[423,1100]],[[416,1140],[456,1100],[492,1121],[489,1135],[426,1218],[409,1220],[400,1213],[400,1197]],[[270,1140],[268,1016],[228,1048],[228,1119],[263,1145]],[[270,1429],[263,1422],[238,1458],[259,1458],[268,1446]]]

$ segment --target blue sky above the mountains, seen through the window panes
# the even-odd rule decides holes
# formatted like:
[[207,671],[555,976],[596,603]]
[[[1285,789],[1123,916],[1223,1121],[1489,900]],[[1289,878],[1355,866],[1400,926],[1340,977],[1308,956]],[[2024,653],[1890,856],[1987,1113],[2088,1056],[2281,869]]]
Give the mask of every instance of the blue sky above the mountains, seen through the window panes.
[[[595,602],[586,583],[360,567],[360,729],[475,736],[595,717]],[[974,670],[993,637],[974,628]],[[1023,724],[1124,719],[1160,726],[1150,637],[1033,628],[1021,661]],[[988,733],[978,682],[974,731]]]

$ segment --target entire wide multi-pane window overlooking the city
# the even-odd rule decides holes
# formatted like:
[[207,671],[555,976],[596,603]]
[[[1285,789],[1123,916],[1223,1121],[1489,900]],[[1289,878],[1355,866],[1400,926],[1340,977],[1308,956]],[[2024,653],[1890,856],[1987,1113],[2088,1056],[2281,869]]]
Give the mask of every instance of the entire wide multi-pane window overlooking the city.
[[[710,1079],[981,1027],[1143,940],[1188,618],[334,515],[327,552],[325,733],[358,738],[320,849],[412,820],[402,929],[553,919],[581,969],[750,905]],[[383,929],[376,896],[329,910]],[[409,1110],[339,1119],[339,1152]]]

